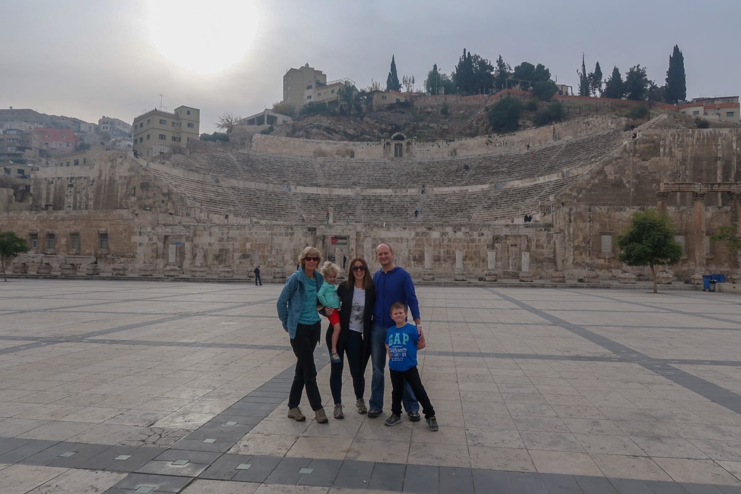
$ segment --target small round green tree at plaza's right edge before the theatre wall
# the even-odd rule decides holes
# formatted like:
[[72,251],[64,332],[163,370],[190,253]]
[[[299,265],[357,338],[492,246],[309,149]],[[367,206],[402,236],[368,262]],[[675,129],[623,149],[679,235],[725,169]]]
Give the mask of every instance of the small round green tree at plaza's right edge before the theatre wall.
[[658,293],[656,266],[677,264],[682,258],[682,244],[674,240],[674,225],[668,216],[655,210],[637,211],[628,230],[617,237],[620,262],[628,266],[651,267],[654,293]]

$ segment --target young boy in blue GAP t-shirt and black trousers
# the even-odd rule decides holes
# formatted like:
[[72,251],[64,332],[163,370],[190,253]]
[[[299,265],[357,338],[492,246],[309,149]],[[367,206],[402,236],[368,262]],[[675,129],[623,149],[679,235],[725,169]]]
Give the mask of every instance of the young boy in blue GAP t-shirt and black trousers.
[[407,307],[402,302],[391,304],[391,319],[396,326],[386,331],[386,353],[393,390],[391,391],[391,416],[386,419],[385,424],[396,425],[402,421],[402,395],[406,380],[417,401],[422,405],[422,413],[425,414],[428,428],[436,431],[439,427],[435,418],[435,410],[425,387],[422,386],[422,380],[416,368],[416,351],[426,346],[425,337],[419,335],[414,324],[407,324]]

